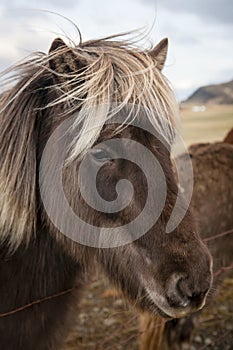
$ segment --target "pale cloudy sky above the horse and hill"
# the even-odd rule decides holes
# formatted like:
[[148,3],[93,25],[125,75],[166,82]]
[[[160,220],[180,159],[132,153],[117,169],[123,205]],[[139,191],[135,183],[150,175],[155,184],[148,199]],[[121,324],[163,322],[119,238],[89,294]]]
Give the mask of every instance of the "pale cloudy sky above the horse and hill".
[[[55,12],[56,14],[46,11]],[[168,37],[164,74],[184,100],[199,86],[233,79],[232,0],[0,0],[0,71],[52,40],[139,29],[149,47]]]

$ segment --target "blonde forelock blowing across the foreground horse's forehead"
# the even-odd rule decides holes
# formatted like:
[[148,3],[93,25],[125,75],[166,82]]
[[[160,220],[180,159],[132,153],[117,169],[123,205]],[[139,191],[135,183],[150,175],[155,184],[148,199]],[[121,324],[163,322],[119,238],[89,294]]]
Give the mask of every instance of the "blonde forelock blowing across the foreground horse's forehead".
[[[140,109],[147,111],[155,129],[168,143],[172,142],[177,103],[148,50],[139,50],[130,42],[102,39],[74,49],[62,47],[52,52],[52,57],[56,60],[66,54],[63,64],[69,65],[72,73],[64,73],[62,65],[59,66],[56,74],[60,84],[56,89],[61,91],[61,96],[50,106],[66,103],[69,113],[77,110],[77,104],[80,106],[74,125],[79,132],[73,140],[71,159],[89,149],[106,121],[129,105],[132,107],[129,119],[135,118]],[[85,67],[79,74],[75,61]]]

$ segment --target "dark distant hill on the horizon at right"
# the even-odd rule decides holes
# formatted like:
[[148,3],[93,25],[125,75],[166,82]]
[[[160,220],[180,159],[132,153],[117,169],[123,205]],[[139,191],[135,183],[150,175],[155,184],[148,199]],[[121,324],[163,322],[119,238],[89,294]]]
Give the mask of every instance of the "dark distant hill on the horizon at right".
[[200,87],[183,103],[196,105],[233,104],[233,80],[224,84]]

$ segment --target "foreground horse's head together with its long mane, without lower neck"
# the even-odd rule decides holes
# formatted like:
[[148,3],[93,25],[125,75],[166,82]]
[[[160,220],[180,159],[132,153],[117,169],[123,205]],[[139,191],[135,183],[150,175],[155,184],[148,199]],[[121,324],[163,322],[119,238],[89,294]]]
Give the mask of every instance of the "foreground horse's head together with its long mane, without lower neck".
[[[85,162],[74,160],[79,155],[77,142],[73,161],[62,169],[67,149],[55,146],[50,138],[77,110],[81,117],[79,114],[75,125],[65,132],[76,126],[85,137],[86,126],[97,119],[101,101],[104,106],[123,101],[116,109],[120,111],[130,101],[136,108],[148,106],[157,116],[164,114],[168,121],[175,117],[174,96],[160,72],[167,41],[152,53],[134,50],[131,44],[103,39],[72,49],[56,40],[48,56],[29,59],[12,71],[14,77],[23,74],[0,99],[4,112],[0,135],[2,241],[9,241],[14,251],[21,243],[33,241],[33,234],[39,234],[42,226],[42,232],[46,228],[63,240],[64,249],[68,247],[68,253],[85,267],[93,264],[95,256],[109,278],[141,308],[178,317],[202,306],[211,284],[211,259],[189,212],[173,232],[166,233],[177,195],[169,151],[159,139],[131,126],[120,137],[130,143],[121,142],[120,147],[96,144],[85,155]],[[108,108],[103,116],[101,125],[108,120]],[[57,136],[62,138],[62,134]],[[90,146],[96,138],[89,137],[92,133],[87,136],[84,144]],[[113,140],[111,128],[102,130],[101,138]],[[133,140],[144,146],[143,152]],[[58,172],[54,171],[56,161]],[[74,214],[81,219],[77,229]],[[61,234],[66,228],[74,233],[72,237],[68,234],[68,240]]]

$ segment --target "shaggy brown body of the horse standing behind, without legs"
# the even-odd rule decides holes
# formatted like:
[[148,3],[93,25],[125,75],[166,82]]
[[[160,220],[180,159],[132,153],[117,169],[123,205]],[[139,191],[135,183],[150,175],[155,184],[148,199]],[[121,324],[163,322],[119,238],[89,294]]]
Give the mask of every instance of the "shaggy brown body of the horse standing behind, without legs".
[[[214,257],[214,271],[217,271],[231,264],[233,259],[231,244],[228,244],[232,239],[230,235],[208,241],[209,237],[233,227],[233,147],[225,141],[196,144],[190,146],[189,152],[195,179],[191,206],[200,234],[207,240]],[[185,156],[180,157],[180,165],[185,178]],[[188,188],[187,177],[184,183]]]

